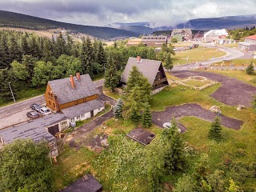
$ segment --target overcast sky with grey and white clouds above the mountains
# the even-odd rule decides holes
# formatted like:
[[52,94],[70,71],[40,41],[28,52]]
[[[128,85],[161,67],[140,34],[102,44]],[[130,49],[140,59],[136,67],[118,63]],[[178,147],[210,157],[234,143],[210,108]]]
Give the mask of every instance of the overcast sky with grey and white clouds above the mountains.
[[256,14],[255,7],[255,0],[0,0],[0,10],[90,26],[113,22],[174,26],[193,18]]

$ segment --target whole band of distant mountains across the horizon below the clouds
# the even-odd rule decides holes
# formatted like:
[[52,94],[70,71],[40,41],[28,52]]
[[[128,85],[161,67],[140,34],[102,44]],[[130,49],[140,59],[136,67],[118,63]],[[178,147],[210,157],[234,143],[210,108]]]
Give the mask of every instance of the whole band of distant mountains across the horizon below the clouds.
[[95,38],[113,40],[118,38],[138,37],[140,34],[152,34],[157,30],[173,30],[174,28],[190,28],[192,30],[225,28],[233,30],[246,26],[256,26],[256,14],[222,18],[198,18],[180,23],[177,26],[157,26],[157,23],[153,22],[114,22],[106,26],[82,26],[0,10],[0,27],[1,26],[19,27],[30,30],[64,28],[74,33],[89,34]]

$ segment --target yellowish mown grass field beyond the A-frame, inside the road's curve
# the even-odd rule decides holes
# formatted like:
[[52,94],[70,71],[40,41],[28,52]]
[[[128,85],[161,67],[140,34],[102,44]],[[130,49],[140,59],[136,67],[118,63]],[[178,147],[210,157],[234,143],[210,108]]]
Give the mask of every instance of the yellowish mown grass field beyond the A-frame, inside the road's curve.
[[197,48],[193,50],[176,51],[173,56],[174,65],[182,65],[191,62],[201,62],[210,58],[222,57],[226,54],[217,48]]

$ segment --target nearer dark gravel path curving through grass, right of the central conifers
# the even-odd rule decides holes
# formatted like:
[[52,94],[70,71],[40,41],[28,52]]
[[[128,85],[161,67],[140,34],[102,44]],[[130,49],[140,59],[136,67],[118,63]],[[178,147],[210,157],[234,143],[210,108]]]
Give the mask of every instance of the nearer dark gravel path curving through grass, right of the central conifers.
[[[202,106],[198,104],[185,104],[182,106],[169,106],[165,111],[152,112],[152,121],[157,126],[162,127],[164,122],[170,122],[172,118],[178,120],[178,118],[185,116],[194,116],[212,122],[216,114],[210,112],[210,110],[203,109]],[[222,126],[226,126],[230,129],[239,130],[240,126],[243,124],[243,122],[238,119],[229,118],[224,115],[221,115],[220,118],[222,120]],[[178,127],[182,132],[186,131],[186,127],[182,126],[180,122],[178,122]]]

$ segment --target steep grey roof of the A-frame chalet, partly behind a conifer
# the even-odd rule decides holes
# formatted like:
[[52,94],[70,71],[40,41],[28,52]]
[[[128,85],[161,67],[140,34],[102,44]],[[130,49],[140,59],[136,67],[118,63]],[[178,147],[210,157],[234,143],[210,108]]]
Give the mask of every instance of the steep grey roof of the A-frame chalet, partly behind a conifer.
[[158,69],[161,66],[160,61],[144,59],[142,58],[140,62],[137,62],[137,58],[129,58],[126,64],[126,69],[123,71],[121,82],[127,82],[129,78],[129,73],[133,66],[137,66],[138,70],[142,72],[143,76],[147,78],[151,85],[153,85],[154,79],[158,73]]

